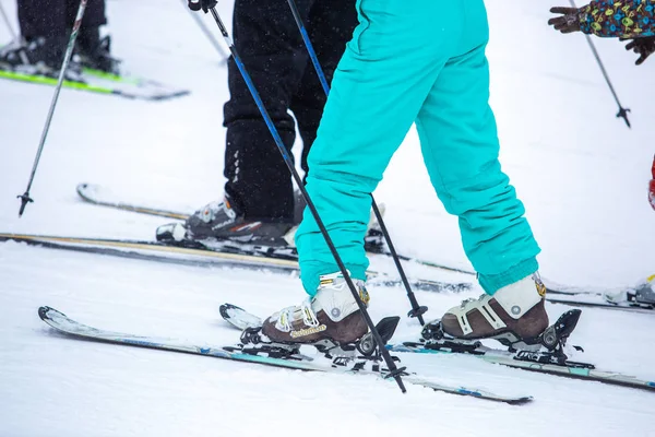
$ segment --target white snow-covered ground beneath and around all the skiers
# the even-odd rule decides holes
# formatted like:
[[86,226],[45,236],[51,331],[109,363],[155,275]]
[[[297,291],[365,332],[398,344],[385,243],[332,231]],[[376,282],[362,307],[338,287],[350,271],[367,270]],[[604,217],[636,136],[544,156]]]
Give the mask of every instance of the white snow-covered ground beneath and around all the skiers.
[[[15,10],[13,1],[0,1]],[[502,161],[544,249],[543,274],[614,287],[654,273],[655,215],[646,181],[655,152],[655,60],[635,68],[616,40],[596,39],[623,105],[632,109],[628,130],[614,118],[616,104],[584,38],[546,26],[553,4],[487,4]],[[229,22],[231,2],[222,2],[219,11]],[[82,181],[168,208],[193,209],[222,194],[222,105],[228,98],[223,59],[181,1],[114,0],[108,14],[114,51],[128,70],[192,94],[143,103],[62,92],[32,189],[36,202],[19,220],[15,196],[25,190],[52,90],[0,81],[0,232],[153,238],[166,223],[84,204],[74,191]],[[0,42],[9,35],[0,25]],[[468,268],[456,221],[429,186],[415,132],[376,196],[386,203],[400,251]],[[371,292],[373,319],[407,311],[401,288]],[[478,293],[417,297],[439,317]],[[509,406],[416,388],[402,395],[372,378],[62,339],[36,314],[49,305],[105,329],[215,344],[236,341],[236,331],[219,319],[222,303],[266,315],[302,297],[291,276],[0,244],[0,435],[655,435],[654,394],[636,390],[467,357],[410,356],[404,362],[412,369],[444,382],[536,400]],[[553,319],[565,309],[548,307]],[[403,320],[396,340],[410,339],[415,323]],[[653,379],[654,331],[652,315],[585,309],[571,339],[585,353],[574,358]]]

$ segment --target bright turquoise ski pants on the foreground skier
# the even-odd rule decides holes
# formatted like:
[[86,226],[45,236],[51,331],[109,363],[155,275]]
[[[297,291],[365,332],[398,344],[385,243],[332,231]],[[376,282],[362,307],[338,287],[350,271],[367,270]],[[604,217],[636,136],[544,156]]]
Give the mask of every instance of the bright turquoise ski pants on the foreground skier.
[[[334,74],[307,179],[353,277],[366,279],[371,192],[413,123],[483,288],[493,294],[534,273],[539,247],[498,161],[483,0],[358,0],[357,10],[360,24]],[[338,268],[308,209],[296,244],[302,284],[314,295],[319,275]]]

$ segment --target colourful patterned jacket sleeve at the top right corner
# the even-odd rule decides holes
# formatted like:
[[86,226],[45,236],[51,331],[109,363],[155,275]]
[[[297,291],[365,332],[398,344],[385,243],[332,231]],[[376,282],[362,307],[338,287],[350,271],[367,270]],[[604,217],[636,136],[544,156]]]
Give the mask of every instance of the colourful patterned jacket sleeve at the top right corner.
[[655,0],[594,0],[582,8],[580,29],[602,37],[655,35]]

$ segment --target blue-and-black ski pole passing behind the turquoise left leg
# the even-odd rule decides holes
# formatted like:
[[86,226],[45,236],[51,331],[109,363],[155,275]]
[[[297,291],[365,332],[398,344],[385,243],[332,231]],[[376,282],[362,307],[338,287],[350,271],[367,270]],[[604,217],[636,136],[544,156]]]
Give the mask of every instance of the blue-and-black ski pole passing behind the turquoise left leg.
[[[309,58],[311,59],[311,62],[314,66],[314,70],[317,70],[317,74],[319,75],[319,81],[321,82],[321,85],[323,86],[323,91],[325,92],[325,95],[329,95],[330,94],[330,85],[327,84],[327,78],[325,78],[325,73],[323,72],[323,69],[321,68],[321,62],[319,61],[319,57],[317,56],[313,45],[311,44],[311,40],[309,39],[309,34],[307,33],[307,27],[305,27],[305,23],[302,22],[302,17],[300,16],[300,12],[298,11],[298,5],[296,4],[295,0],[287,0],[287,2],[289,3],[289,8],[291,9],[291,13],[294,14],[294,20],[296,20],[298,29],[300,31],[300,35],[302,35],[302,40],[305,42],[305,47],[307,47],[307,51],[309,52]],[[409,299],[409,304],[412,305],[412,310],[409,312],[407,312],[407,316],[418,318],[418,321],[420,322],[420,324],[424,326],[425,321],[424,321],[422,315],[428,310],[428,307],[419,306],[418,302],[416,300],[416,295],[412,291],[412,285],[409,285],[409,281],[407,281],[407,275],[405,274],[405,269],[403,269],[403,264],[401,263],[401,260],[395,250],[395,247],[393,246],[391,236],[389,235],[389,232],[386,231],[386,225],[384,224],[384,220],[382,218],[382,214],[380,213],[380,209],[378,208],[378,203],[376,202],[373,194],[371,194],[371,204],[373,206],[373,213],[376,214],[376,218],[378,220],[378,223],[380,224],[380,229],[382,231],[382,235],[384,236],[384,239],[386,240],[386,245],[389,246],[389,251],[391,252],[393,262],[395,263],[395,267],[401,275],[403,285],[405,286],[405,290],[407,291],[407,298]]]

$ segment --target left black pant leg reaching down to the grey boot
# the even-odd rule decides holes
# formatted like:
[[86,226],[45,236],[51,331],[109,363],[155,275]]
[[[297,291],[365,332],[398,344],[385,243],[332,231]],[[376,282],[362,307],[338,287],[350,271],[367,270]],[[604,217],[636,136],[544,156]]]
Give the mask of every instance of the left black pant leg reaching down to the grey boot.
[[[313,0],[298,0],[307,19]],[[236,0],[235,46],[287,150],[295,141],[288,114],[307,66],[302,39],[286,1]],[[230,99],[225,105],[225,191],[249,218],[288,221],[293,184],[234,59],[228,61]]]

